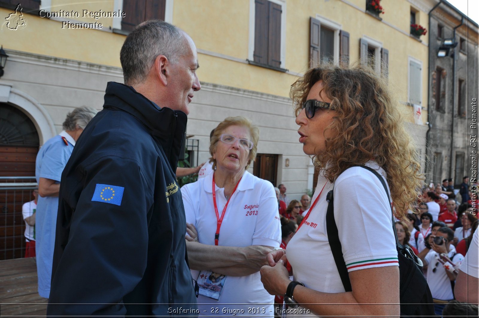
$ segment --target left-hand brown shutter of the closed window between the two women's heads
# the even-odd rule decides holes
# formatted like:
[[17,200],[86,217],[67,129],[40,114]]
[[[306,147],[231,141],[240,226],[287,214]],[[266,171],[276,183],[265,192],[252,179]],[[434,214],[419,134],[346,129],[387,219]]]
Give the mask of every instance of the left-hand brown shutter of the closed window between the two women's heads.
[[268,64],[269,1],[255,0],[253,60]]

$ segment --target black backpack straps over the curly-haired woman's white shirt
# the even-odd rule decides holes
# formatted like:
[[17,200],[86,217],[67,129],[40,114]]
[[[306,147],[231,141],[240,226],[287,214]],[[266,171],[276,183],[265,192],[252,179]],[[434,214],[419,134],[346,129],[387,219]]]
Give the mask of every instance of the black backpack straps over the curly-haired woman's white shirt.
[[[388,187],[386,185],[386,182],[379,175],[379,173],[377,173],[376,170],[366,166],[360,166],[360,165],[351,166],[350,168],[352,167],[361,167],[371,171],[374,175],[376,175],[376,177],[381,181],[384,187],[384,190],[386,190],[386,194],[388,195],[389,205],[391,205],[391,199],[389,198],[389,192],[388,192]],[[336,267],[338,269],[339,276],[341,277],[344,290],[346,292],[350,292],[353,289],[351,287],[351,281],[349,280],[348,269],[346,268],[346,263],[344,262],[344,257],[342,255],[342,246],[339,240],[338,227],[336,226],[336,221],[334,220],[333,190],[328,192],[328,195],[326,196],[326,200],[328,201],[328,210],[326,212],[326,232],[328,233],[328,241],[331,247],[331,252],[334,258],[334,262],[336,263]],[[392,212],[392,206],[391,206],[391,212]],[[394,235],[396,237],[396,245],[400,248],[403,248],[403,246],[399,244],[398,234],[396,233],[396,226],[394,225],[394,214],[392,216],[392,225],[394,229]]]

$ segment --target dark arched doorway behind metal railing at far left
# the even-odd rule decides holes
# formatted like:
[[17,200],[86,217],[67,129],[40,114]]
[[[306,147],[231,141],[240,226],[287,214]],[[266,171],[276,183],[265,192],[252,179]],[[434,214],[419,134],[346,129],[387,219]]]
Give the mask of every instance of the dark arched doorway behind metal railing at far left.
[[34,186],[28,183],[35,180],[28,177],[35,175],[39,146],[32,120],[11,104],[0,103],[0,260],[23,257],[22,205],[33,200]]

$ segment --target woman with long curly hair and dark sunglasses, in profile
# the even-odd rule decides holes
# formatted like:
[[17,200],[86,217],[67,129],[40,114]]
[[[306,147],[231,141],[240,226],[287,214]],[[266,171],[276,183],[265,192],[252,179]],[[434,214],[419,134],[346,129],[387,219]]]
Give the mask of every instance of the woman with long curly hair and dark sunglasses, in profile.
[[[333,66],[310,69],[292,85],[299,142],[320,169],[318,185],[297,233],[286,250],[268,254],[261,274],[270,294],[285,294],[290,307],[303,304],[297,315],[399,316],[398,252],[388,196],[376,175],[354,167],[382,175],[396,217],[412,209],[423,178],[386,87],[372,70]],[[330,190],[351,292],[345,291],[328,241]],[[286,261],[294,269],[293,281]]]

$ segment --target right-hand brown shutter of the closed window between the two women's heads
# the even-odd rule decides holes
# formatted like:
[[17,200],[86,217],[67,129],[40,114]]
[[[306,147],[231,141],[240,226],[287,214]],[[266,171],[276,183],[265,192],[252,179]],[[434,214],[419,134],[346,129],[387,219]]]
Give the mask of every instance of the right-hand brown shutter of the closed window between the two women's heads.
[[269,2],[268,65],[281,66],[281,6]]

